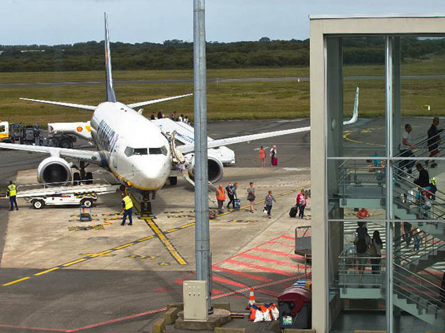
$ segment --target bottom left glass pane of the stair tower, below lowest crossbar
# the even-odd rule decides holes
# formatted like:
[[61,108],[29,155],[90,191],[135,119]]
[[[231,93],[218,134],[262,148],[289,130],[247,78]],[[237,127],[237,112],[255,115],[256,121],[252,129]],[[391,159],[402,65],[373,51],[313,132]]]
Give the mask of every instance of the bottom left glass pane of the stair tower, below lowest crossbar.
[[[385,223],[369,225],[369,234],[353,221],[328,225],[330,332],[385,330]],[[369,248],[359,252],[362,242]]]

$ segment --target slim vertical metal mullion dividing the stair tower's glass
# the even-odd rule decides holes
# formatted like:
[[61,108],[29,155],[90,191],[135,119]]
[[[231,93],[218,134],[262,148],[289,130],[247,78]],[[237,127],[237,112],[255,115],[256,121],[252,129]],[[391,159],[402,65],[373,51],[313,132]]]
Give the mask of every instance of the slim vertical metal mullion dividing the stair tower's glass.
[[[386,37],[385,43],[385,99],[386,99],[386,125],[387,125],[387,219],[394,219],[393,212],[393,139],[392,139],[392,58],[393,58],[393,39]],[[386,316],[387,332],[393,332],[393,244],[394,244],[394,226],[393,222],[387,221],[387,292],[386,292]]]

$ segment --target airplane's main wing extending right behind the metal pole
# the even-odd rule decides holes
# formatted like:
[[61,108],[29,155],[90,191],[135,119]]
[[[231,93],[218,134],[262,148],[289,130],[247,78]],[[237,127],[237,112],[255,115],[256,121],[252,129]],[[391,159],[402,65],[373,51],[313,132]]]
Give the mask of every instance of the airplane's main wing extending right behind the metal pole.
[[[291,128],[290,130],[276,130],[275,132],[259,133],[252,135],[243,135],[241,137],[228,137],[227,139],[219,139],[207,142],[207,148],[216,148],[220,146],[228,146],[229,144],[240,144],[241,142],[249,142],[253,140],[266,139],[267,137],[278,137],[280,135],[293,134],[311,130],[311,126],[301,128]],[[177,151],[183,154],[191,153],[195,150],[194,144],[186,144],[177,146]]]

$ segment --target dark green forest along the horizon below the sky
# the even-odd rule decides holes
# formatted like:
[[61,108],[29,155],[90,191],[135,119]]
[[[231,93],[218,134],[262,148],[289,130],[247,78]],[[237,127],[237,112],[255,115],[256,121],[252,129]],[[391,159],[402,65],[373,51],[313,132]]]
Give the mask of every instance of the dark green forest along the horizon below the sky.
[[[403,37],[402,58],[427,59],[445,54],[445,38]],[[343,39],[343,62],[348,65],[385,62],[381,37]],[[156,43],[111,43],[113,69],[192,69],[193,43],[165,40]],[[66,45],[0,45],[0,71],[92,71],[104,68],[104,42]],[[208,42],[208,68],[289,67],[309,65],[309,40]]]

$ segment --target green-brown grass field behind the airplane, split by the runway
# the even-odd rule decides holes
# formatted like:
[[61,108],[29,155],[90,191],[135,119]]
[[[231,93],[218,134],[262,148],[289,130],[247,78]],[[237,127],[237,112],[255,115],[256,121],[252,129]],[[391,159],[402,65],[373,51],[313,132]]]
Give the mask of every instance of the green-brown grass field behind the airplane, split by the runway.
[[[344,76],[382,76],[384,67],[346,66]],[[402,67],[403,75],[445,74],[442,58],[432,60],[407,60]],[[115,71],[115,80],[161,80],[192,78],[192,71]],[[308,67],[247,68],[209,70],[208,78],[266,78],[309,76]],[[66,82],[104,80],[100,71],[0,73],[0,83]],[[345,117],[353,110],[355,87],[360,87],[360,117],[384,115],[384,80],[345,80],[343,83]],[[309,117],[309,82],[278,81],[250,83],[209,83],[209,119],[271,119]],[[402,82],[403,115],[445,115],[445,80],[416,79]],[[192,83],[159,83],[116,85],[116,95],[123,103],[134,103],[177,94],[193,92]],[[91,113],[83,110],[58,108],[51,105],[20,101],[19,97],[47,99],[97,105],[104,101],[104,86],[60,87],[3,87],[0,89],[0,118],[10,122],[42,123],[57,121],[86,121]],[[430,104],[426,113],[421,106]],[[163,110],[164,114],[177,111],[193,116],[193,98],[160,103],[145,107],[145,115]]]

